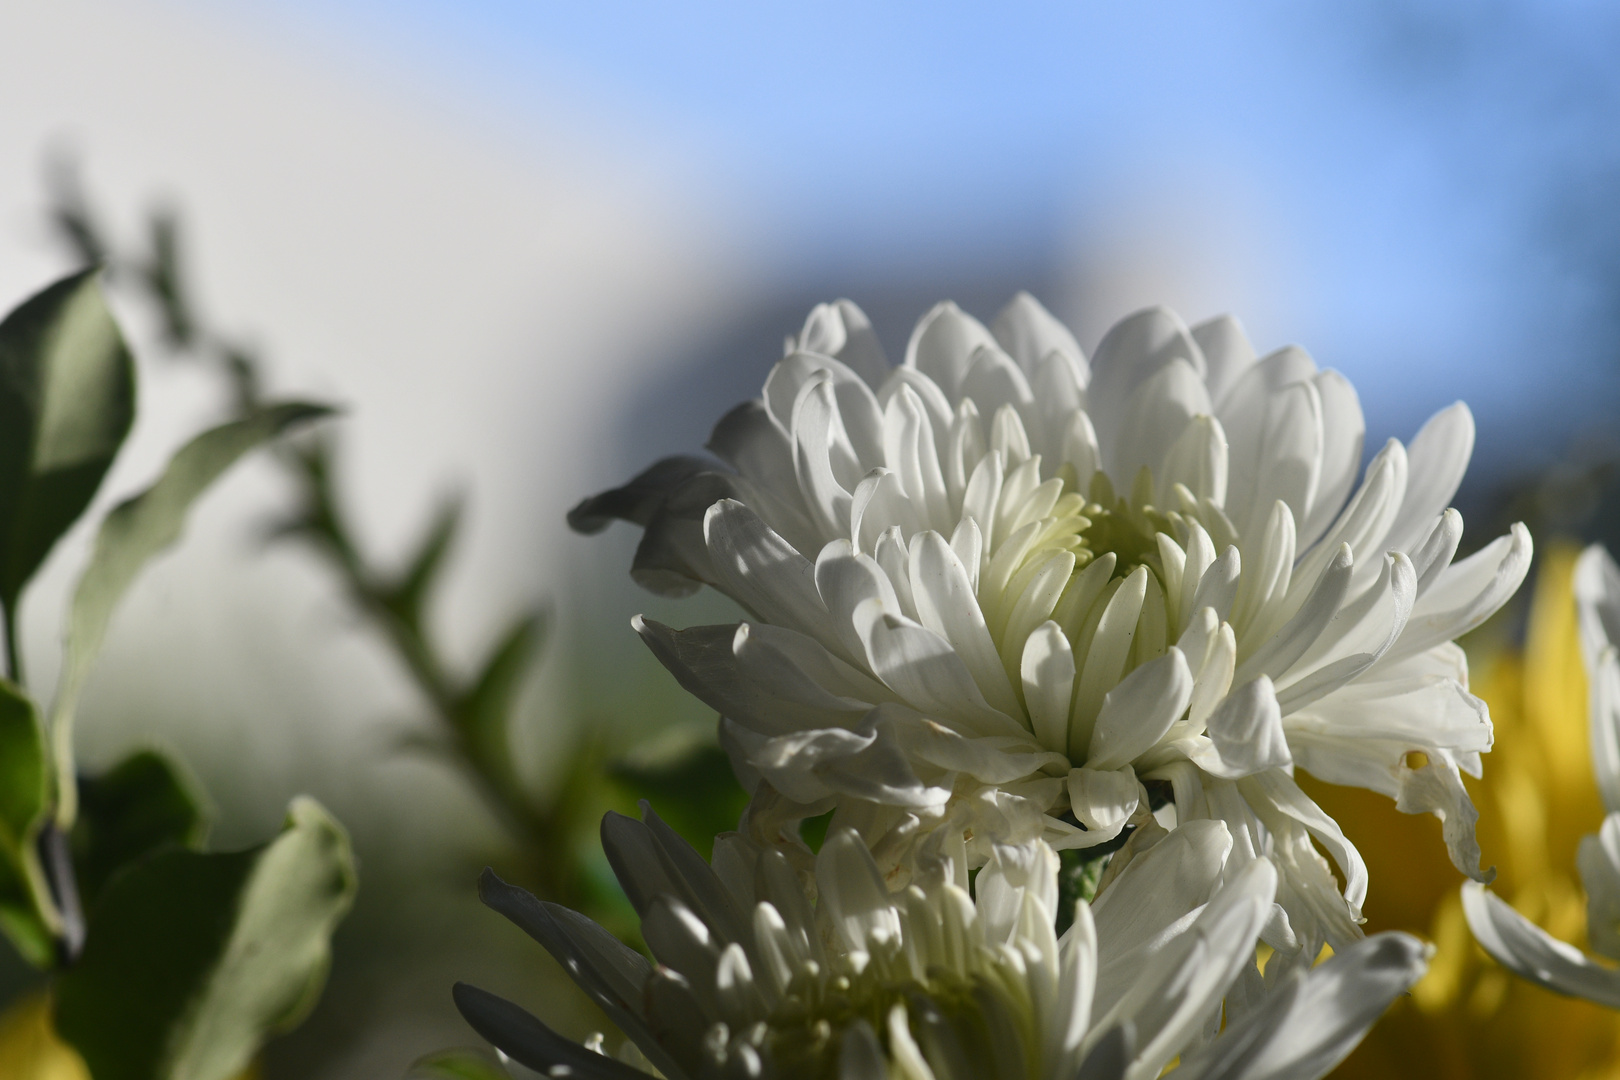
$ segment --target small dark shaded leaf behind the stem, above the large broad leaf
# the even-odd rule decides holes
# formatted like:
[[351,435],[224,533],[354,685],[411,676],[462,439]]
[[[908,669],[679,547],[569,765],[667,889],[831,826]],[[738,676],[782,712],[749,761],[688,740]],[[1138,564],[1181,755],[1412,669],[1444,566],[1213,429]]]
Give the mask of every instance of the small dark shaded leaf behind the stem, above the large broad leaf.
[[120,866],[160,847],[199,847],[206,832],[198,797],[160,753],[143,750],[100,776],[81,776],[73,826],[81,900],[94,907]]

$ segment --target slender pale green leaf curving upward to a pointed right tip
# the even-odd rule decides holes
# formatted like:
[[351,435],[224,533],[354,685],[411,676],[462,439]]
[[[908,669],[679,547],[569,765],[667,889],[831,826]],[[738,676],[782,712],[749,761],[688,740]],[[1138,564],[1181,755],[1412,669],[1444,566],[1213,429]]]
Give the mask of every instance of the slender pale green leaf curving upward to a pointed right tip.
[[326,406],[288,402],[253,416],[204,431],[180,447],[168,468],[139,495],[118,504],[102,520],[84,576],[68,612],[66,649],[57,682],[50,729],[57,764],[57,823],[73,826],[78,800],[73,784],[73,711],[100,651],[112,612],[146,562],[177,539],[191,504],[237,458],[274,439],[292,424],[326,416]]

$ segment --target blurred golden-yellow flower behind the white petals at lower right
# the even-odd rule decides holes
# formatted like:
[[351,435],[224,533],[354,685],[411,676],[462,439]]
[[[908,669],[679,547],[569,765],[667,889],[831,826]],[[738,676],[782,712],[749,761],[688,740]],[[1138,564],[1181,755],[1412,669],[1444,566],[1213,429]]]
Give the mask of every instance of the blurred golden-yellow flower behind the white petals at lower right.
[[[1482,780],[1479,845],[1495,861],[1495,892],[1552,936],[1586,942],[1586,902],[1575,848],[1604,811],[1588,748],[1586,672],[1570,580],[1573,547],[1544,562],[1523,651],[1474,657],[1474,693],[1490,704],[1497,742]],[[1367,931],[1408,929],[1434,939],[1429,975],[1398,1002],[1338,1078],[1620,1077],[1620,1014],[1513,978],[1474,944],[1463,920],[1463,878],[1434,858],[1434,818],[1398,814],[1367,792],[1302,780],[1338,821],[1354,821],[1371,876]]]

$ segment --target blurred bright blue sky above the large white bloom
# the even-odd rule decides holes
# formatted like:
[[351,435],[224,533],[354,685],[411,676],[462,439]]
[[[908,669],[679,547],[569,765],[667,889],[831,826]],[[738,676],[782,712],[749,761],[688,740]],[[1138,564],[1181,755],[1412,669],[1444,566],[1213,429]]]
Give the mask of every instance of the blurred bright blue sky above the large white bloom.
[[271,10],[505,121],[575,100],[688,152],[816,280],[1035,264],[1136,189],[1239,191],[1298,298],[1265,329],[1346,369],[1375,429],[1468,397],[1524,442],[1615,400],[1620,15],[1596,2]]

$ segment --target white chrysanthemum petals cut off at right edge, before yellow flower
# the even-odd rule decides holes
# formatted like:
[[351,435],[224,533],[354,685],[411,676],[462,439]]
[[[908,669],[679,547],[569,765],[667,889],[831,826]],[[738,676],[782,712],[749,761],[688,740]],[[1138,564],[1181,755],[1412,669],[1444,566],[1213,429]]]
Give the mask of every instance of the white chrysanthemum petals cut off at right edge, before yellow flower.
[[[1575,606],[1591,703],[1592,771],[1604,800],[1602,827],[1581,837],[1576,866],[1586,887],[1586,936],[1620,960],[1620,567],[1599,544],[1575,565]],[[1463,886],[1474,938],[1510,972],[1533,983],[1620,1009],[1620,972],[1583,955],[1477,882]]]

